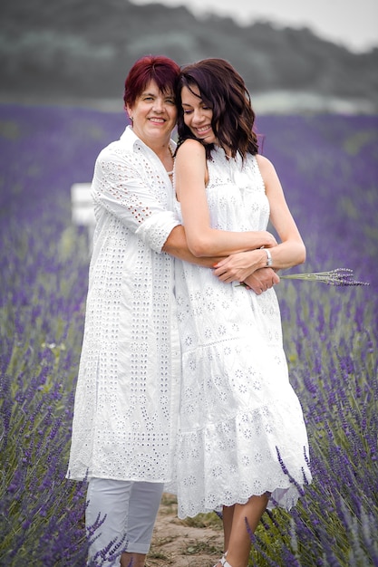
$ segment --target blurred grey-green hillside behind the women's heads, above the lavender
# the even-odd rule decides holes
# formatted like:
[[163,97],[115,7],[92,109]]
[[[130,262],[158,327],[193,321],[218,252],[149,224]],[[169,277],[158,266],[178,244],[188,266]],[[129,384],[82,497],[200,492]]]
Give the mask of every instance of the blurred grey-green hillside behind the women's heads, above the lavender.
[[121,108],[123,80],[145,53],[179,64],[223,57],[247,82],[257,111],[377,113],[378,49],[350,53],[308,29],[129,0],[2,0],[1,100]]

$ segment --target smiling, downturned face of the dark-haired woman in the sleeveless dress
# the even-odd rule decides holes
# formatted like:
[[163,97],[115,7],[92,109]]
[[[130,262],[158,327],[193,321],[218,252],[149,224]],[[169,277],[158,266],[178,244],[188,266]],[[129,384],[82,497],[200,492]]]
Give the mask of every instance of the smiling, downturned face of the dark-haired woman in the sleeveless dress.
[[217,143],[217,138],[211,126],[213,111],[200,98],[197,85],[190,85],[190,89],[187,86],[182,87],[181,105],[184,112],[184,122],[192,134],[207,144]]

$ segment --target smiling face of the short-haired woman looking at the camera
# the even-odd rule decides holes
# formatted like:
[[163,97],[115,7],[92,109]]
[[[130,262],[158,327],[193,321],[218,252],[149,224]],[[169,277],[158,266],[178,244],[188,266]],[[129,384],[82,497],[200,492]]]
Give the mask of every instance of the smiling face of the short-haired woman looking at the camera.
[[177,120],[173,92],[161,92],[156,82],[151,81],[134,104],[126,108],[132,117],[132,129],[145,144],[167,143]]

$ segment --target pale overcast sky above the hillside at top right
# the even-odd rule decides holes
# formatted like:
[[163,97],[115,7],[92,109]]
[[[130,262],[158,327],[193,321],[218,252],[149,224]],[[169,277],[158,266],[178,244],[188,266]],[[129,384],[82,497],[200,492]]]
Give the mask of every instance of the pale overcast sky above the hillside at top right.
[[[378,47],[378,0],[131,0],[134,4],[184,5],[194,14],[228,15],[237,24],[268,20],[309,27],[351,51]],[[152,23],[153,24],[153,23]]]

